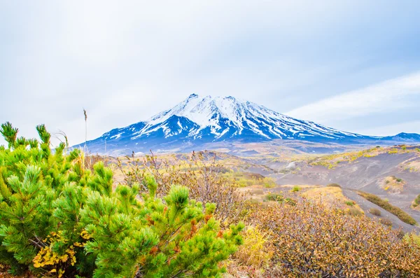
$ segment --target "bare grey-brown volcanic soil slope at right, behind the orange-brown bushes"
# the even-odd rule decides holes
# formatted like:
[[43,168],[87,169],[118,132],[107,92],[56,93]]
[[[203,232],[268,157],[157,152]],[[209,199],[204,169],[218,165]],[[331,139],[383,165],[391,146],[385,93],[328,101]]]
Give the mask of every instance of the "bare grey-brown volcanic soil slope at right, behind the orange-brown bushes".
[[[391,204],[407,211],[420,223],[420,211],[410,208],[414,198],[420,194],[420,173],[409,172],[409,170],[400,167],[400,164],[407,160],[420,161],[420,158],[416,153],[383,153],[372,158],[362,157],[353,162],[342,162],[335,169],[311,166],[306,162],[297,162],[297,167],[299,167],[297,171],[290,171],[290,169],[286,169],[286,167],[281,165],[277,169],[274,168],[279,173],[271,176],[279,184],[327,185],[328,183],[338,183],[342,186],[344,195],[356,201],[367,216],[377,218],[377,216],[368,213],[368,210],[372,207],[380,209],[380,218],[389,218],[393,221],[394,228],[402,227],[403,230],[407,231],[412,230],[414,227],[403,223],[393,214],[365,200],[355,192],[355,190],[362,190],[378,195],[382,199],[387,198]],[[379,187],[379,183],[386,176],[397,176],[405,181],[401,193],[391,193]]]

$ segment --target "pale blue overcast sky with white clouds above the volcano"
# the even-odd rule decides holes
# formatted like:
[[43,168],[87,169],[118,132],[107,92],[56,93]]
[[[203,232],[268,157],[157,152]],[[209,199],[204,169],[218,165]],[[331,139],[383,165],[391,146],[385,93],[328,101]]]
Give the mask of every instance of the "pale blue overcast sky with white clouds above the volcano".
[[[0,0],[1,123],[71,144],[192,93],[420,133],[420,1]],[[0,141],[0,143],[3,141]]]

